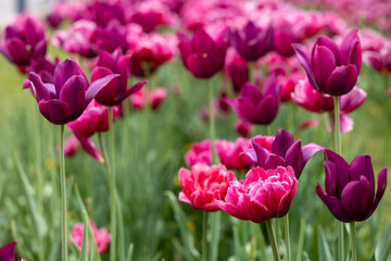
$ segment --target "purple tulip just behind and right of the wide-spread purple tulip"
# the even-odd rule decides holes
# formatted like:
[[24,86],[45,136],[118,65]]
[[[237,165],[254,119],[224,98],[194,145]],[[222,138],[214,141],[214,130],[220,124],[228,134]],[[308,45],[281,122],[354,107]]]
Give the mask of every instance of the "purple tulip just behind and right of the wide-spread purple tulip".
[[118,78],[112,78],[111,82],[102,88],[96,100],[102,105],[118,105],[121,102],[133,94],[139,91],[147,80],[138,82],[127,89],[129,77],[128,69],[129,55],[123,55],[121,50],[115,50],[112,54],[101,50],[98,66],[92,70],[92,83],[99,82],[113,73],[119,74]]

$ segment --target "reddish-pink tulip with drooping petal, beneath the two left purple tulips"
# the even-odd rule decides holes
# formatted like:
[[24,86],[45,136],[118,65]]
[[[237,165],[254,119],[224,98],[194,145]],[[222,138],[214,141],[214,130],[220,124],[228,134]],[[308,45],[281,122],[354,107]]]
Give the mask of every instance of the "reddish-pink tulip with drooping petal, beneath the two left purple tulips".
[[[96,133],[108,132],[109,129],[109,115],[108,108],[99,104],[97,101],[92,100],[84,113],[73,122],[66,124],[76,136],[81,147],[89,153],[93,159],[103,163],[103,157],[94,146],[91,139],[89,139]],[[113,108],[113,121],[116,120],[118,115],[118,108]],[[73,140],[65,142],[65,148],[71,149],[71,145],[74,144]],[[71,150],[72,151],[72,150]]]

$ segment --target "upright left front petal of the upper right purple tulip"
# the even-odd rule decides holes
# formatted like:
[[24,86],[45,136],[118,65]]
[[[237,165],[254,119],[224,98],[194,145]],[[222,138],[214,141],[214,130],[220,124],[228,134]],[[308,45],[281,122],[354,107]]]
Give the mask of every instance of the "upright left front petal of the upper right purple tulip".
[[336,69],[336,58],[330,49],[323,46],[315,46],[313,69],[316,83],[318,84],[321,92],[326,92],[327,79]]

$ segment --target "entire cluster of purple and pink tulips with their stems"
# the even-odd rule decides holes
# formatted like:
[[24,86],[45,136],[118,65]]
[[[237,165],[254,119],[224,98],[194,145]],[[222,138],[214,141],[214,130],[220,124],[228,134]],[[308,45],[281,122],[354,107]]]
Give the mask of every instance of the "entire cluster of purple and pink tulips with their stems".
[[[133,110],[144,110],[148,116],[160,108],[169,92],[153,85],[155,74],[178,54],[188,77],[204,79],[209,94],[209,109],[203,114],[209,121],[209,139],[191,145],[185,156],[190,169],[178,172],[179,201],[203,210],[202,260],[217,258],[209,254],[207,228],[211,225],[211,233],[217,236],[220,220],[209,222],[207,216],[222,210],[239,220],[264,223],[275,261],[281,259],[281,252],[274,221],[283,217],[282,254],[290,261],[288,213],[299,178],[306,178],[302,175],[306,163],[321,151],[325,190],[318,183],[314,195],[341,222],[336,260],[357,261],[355,222],[367,220],[377,209],[387,186],[387,169],[379,172],[376,186],[371,158],[356,156],[349,164],[342,157],[340,134],[353,129],[353,120],[346,114],[367,97],[356,86],[363,61],[380,73],[391,71],[390,39],[370,29],[352,29],[354,18],[343,21],[337,11],[303,11],[277,0],[60,1],[46,22],[54,29],[51,44],[78,55],[83,63],[76,58],[52,59],[45,22],[28,13],[4,29],[0,52],[25,76],[23,88],[33,92],[42,116],[60,125],[59,260],[68,260],[64,156],[73,156],[78,148],[106,167],[110,234],[91,221],[76,224],[71,239],[86,252],[89,237],[84,235],[91,234],[100,254],[110,244],[110,260],[125,260],[118,228],[123,227],[123,213],[116,189],[114,124]],[[219,73],[225,89],[216,98],[211,78]],[[313,140],[302,145],[280,127],[272,136],[268,126],[281,103],[327,113],[332,144],[319,146]],[[217,139],[216,119],[230,109],[238,117],[234,128],[242,137]],[[302,128],[317,125],[311,121]],[[72,132],[66,140],[65,126]],[[254,129],[264,133],[253,136]],[[299,127],[289,130],[293,129]],[[91,139],[94,134],[99,148]],[[351,253],[344,252],[344,223],[350,224]],[[0,249],[0,261],[14,260],[15,245]]]

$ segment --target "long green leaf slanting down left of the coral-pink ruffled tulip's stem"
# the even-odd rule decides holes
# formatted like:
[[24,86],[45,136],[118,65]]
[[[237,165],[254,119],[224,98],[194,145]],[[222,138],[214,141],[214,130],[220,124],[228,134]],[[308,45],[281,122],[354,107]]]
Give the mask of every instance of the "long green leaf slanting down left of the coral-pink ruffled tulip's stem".
[[175,221],[179,226],[185,249],[187,250],[185,251],[186,260],[199,260],[200,252],[194,248],[193,235],[188,228],[188,220],[178,203],[178,198],[172,191],[166,191],[165,195],[168,197],[174,210]]

